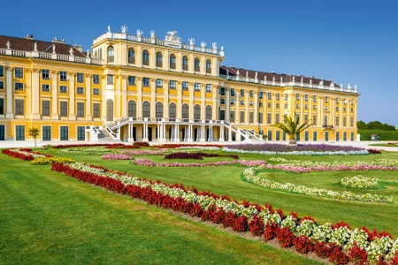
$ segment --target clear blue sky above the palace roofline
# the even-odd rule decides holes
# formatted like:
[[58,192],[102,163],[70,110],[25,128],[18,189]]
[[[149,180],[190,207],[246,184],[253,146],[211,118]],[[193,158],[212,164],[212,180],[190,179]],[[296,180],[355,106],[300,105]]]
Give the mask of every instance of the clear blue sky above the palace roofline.
[[7,1],[0,34],[80,43],[137,29],[217,42],[224,64],[357,85],[358,120],[398,124],[398,1]]

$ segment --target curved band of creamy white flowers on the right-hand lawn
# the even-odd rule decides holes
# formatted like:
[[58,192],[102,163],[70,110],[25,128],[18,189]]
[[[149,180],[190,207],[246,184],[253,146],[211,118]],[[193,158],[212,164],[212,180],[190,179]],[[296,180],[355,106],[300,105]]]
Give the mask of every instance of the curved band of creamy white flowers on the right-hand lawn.
[[257,186],[264,186],[272,190],[279,190],[289,193],[299,193],[310,196],[324,197],[329,199],[336,199],[342,201],[368,201],[368,202],[389,202],[393,203],[393,197],[380,196],[378,194],[356,194],[351,192],[335,192],[325,188],[315,188],[307,186],[295,186],[294,184],[287,183],[281,184],[265,178],[260,178],[256,175],[258,170],[263,170],[264,166],[249,168],[243,171],[243,178],[248,179]]

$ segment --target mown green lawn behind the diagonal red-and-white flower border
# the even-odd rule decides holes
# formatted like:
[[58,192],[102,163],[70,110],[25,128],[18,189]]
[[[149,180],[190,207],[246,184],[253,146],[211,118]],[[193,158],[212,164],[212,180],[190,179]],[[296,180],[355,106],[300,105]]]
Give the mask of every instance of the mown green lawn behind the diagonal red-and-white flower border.
[[[114,149],[113,151],[119,151]],[[398,189],[396,186],[385,186],[385,189],[368,190],[370,193],[394,196],[394,203],[369,203],[358,201],[337,201],[308,195],[294,193],[284,193],[272,191],[259,186],[254,186],[241,178],[241,172],[245,169],[238,165],[207,168],[157,168],[144,167],[129,164],[128,161],[105,161],[99,157],[101,155],[75,155],[59,154],[57,149],[46,150],[46,153],[71,157],[79,162],[88,162],[103,165],[105,168],[129,172],[139,178],[149,178],[161,180],[166,183],[182,183],[184,186],[195,186],[199,190],[211,191],[216,194],[224,194],[238,201],[247,200],[263,205],[265,202],[271,203],[274,208],[282,208],[286,214],[295,211],[299,216],[313,216],[318,223],[337,223],[348,222],[352,227],[367,226],[369,229],[377,228],[379,231],[388,231],[394,238],[398,237]],[[220,154],[225,154],[220,152]],[[232,153],[231,153],[232,154]],[[251,155],[236,154],[240,159],[246,160],[267,160],[276,155]],[[162,155],[137,156],[138,158],[149,158],[155,162],[172,162],[163,159]],[[387,158],[396,159],[393,153],[383,152],[383,155],[283,155],[286,159],[311,160],[318,162],[333,161],[373,161],[375,159]],[[228,159],[228,158],[227,158]],[[204,160],[203,162],[207,162]],[[397,171],[342,171],[342,172],[312,172],[307,174],[295,173],[273,173],[273,178],[278,178],[279,182],[300,183],[303,179],[306,185],[314,187],[325,187],[335,190],[351,190],[358,192],[357,189],[348,189],[339,186],[339,179],[346,176],[361,174],[371,178],[398,178]],[[295,178],[297,180],[295,180]],[[295,182],[294,182],[295,181]],[[312,185],[311,185],[312,184]],[[359,191],[358,193],[364,193]]]

